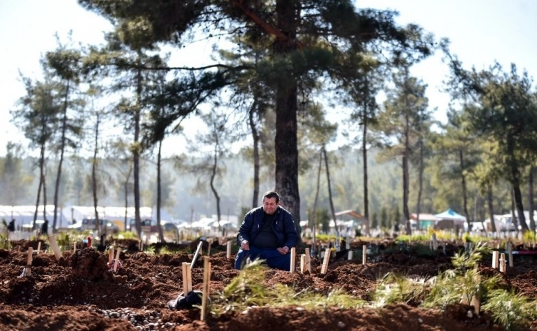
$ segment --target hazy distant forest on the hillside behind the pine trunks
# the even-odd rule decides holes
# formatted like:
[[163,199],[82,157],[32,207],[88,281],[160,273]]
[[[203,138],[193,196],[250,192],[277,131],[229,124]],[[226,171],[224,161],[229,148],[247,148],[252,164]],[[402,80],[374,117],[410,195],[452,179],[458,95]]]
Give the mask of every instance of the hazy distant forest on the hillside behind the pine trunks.
[[[379,162],[379,151],[370,151],[368,161],[368,181],[370,192],[370,221],[376,220],[377,225],[391,226],[402,219],[402,181],[401,166],[397,161]],[[9,157],[9,156],[8,156]],[[162,205],[176,219],[189,221],[216,214],[215,197],[211,192],[204,174],[189,172],[182,167],[180,158],[162,160]],[[341,149],[330,153],[330,182],[335,211],[364,210],[364,177],[361,161],[361,151]],[[37,159],[19,159],[21,164],[17,173],[8,176],[4,166],[2,172],[2,190],[0,204],[2,205],[32,205],[35,204],[39,185],[39,169]],[[98,205],[125,205],[125,168],[122,161],[102,159],[98,171]],[[221,160],[222,174],[216,181],[216,188],[221,199],[222,219],[227,215],[242,217],[245,210],[252,208],[253,196],[253,165],[246,159],[244,153],[231,154]],[[140,171],[140,199],[143,206],[156,205],[156,165],[154,161],[142,161]],[[6,158],[0,159],[0,165],[6,165]],[[54,179],[57,164],[48,161],[46,172],[47,203],[52,204],[54,195]],[[317,190],[318,165],[310,162],[304,165],[304,171],[299,176],[301,197],[301,214],[307,219],[315,200]],[[423,180],[423,196],[421,212],[437,213],[447,208],[457,212],[462,210],[461,185],[457,178],[439,179],[434,173],[436,168],[428,166]],[[59,205],[93,205],[91,188],[92,161],[70,157],[65,160],[60,183]],[[273,178],[264,167],[260,183],[261,193],[274,188]],[[8,179],[19,180],[8,183]],[[132,178],[127,180],[127,204],[134,205],[132,193]],[[483,194],[470,185],[469,204],[471,217],[475,220],[487,218],[487,206]],[[526,191],[527,192],[527,191]],[[527,198],[528,195],[525,195]],[[41,198],[41,203],[43,202]],[[257,205],[260,205],[258,201]],[[417,173],[411,172],[410,178],[410,212],[415,212],[417,205]],[[501,183],[495,188],[494,205],[496,213],[508,213],[511,208],[509,184]],[[319,197],[317,208],[328,214],[328,186],[326,170],[322,168],[319,182]]]

